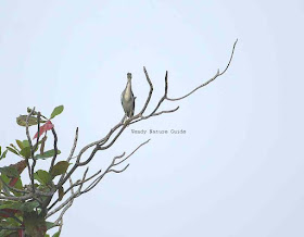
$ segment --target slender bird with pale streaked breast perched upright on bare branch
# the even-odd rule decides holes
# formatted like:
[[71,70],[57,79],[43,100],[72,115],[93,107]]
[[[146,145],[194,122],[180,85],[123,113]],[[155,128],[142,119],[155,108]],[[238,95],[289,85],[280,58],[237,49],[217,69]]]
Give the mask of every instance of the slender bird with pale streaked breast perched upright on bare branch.
[[132,74],[128,73],[127,74],[127,85],[126,88],[124,89],[122,93],[122,105],[124,108],[124,111],[128,117],[131,117],[134,115],[134,110],[135,110],[135,97],[132,95],[132,89],[131,89],[131,78]]

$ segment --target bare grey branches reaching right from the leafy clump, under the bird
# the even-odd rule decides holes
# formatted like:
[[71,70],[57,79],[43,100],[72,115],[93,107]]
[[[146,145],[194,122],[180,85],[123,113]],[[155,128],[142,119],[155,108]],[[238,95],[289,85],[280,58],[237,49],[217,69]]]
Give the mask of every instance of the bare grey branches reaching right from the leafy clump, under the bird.
[[[147,98],[142,109],[140,110],[140,112],[137,115],[127,118],[126,121],[125,121],[125,117],[124,117],[119,123],[117,123],[113,128],[111,128],[110,132],[102,139],[99,139],[97,141],[93,141],[93,142],[85,146],[79,151],[79,153],[77,154],[75,164],[71,167],[71,170],[66,174],[61,176],[61,179],[60,179],[59,184],[56,185],[56,189],[59,187],[61,187],[62,185],[64,185],[65,182],[71,178],[72,174],[76,171],[77,167],[87,165],[94,158],[94,155],[96,155],[96,153],[98,151],[106,150],[110,147],[112,147],[115,144],[115,141],[119,138],[119,136],[123,134],[123,132],[130,124],[140,122],[140,121],[143,121],[143,120],[148,120],[149,117],[157,116],[157,115],[161,115],[161,114],[164,114],[164,113],[173,113],[173,112],[176,112],[179,109],[179,107],[177,107],[177,108],[175,108],[173,110],[159,111],[161,105],[162,105],[162,103],[165,100],[167,100],[167,101],[182,100],[182,99],[189,97],[190,95],[192,95],[194,91],[199,90],[200,88],[205,87],[206,85],[208,85],[211,82],[215,80],[218,76],[221,76],[223,74],[225,74],[226,71],[228,70],[231,61],[232,61],[233,52],[235,52],[235,48],[236,48],[237,41],[238,40],[236,40],[236,42],[233,43],[232,52],[231,52],[231,55],[230,55],[230,59],[229,59],[229,62],[228,62],[226,68],[223,72],[219,72],[219,70],[218,70],[217,73],[215,74],[215,76],[213,76],[211,79],[208,79],[207,82],[205,82],[204,84],[202,84],[199,87],[194,88],[189,93],[187,93],[187,95],[185,95],[182,97],[179,97],[179,98],[168,98],[168,96],[167,96],[167,93],[168,93],[168,72],[166,72],[166,74],[165,74],[165,90],[164,90],[164,95],[159,100],[156,107],[152,110],[152,112],[148,113],[148,115],[143,115],[143,113],[145,112],[145,110],[147,110],[147,108],[148,108],[148,105],[149,105],[149,103],[151,101],[151,98],[152,98],[152,95],[153,95],[153,84],[152,84],[152,82],[151,82],[151,79],[149,77],[149,74],[148,74],[145,67],[143,67],[143,72],[144,72],[147,82],[148,82],[148,84],[150,86],[150,91],[148,93],[148,98]],[[76,135],[75,135],[75,139],[74,139],[74,144],[73,144],[73,147],[72,147],[72,150],[71,150],[71,154],[67,158],[67,161],[71,161],[71,159],[74,155],[74,152],[75,152],[75,149],[76,149],[76,145],[77,145],[77,139],[78,139],[78,128],[76,129]],[[128,167],[129,164],[127,164],[122,170],[116,170],[116,169],[114,169],[114,166],[125,162],[130,155],[132,155],[141,146],[145,145],[147,142],[149,142],[149,140],[143,142],[143,144],[141,144],[134,152],[131,152],[128,157],[126,157],[125,159],[123,159],[121,161],[118,161],[118,159],[122,159],[125,155],[125,153],[122,154],[122,155],[115,157],[112,160],[112,163],[107,166],[107,169],[103,173],[101,173],[101,171],[99,171],[99,172],[97,172],[96,174],[93,174],[89,178],[83,178],[81,182],[76,182],[74,184],[71,183],[69,188],[67,188],[67,190],[64,194],[67,194],[67,191],[73,190],[73,188],[76,187],[76,186],[79,186],[78,190],[76,192],[74,192],[68,199],[66,199],[54,211],[49,212],[48,216],[50,216],[51,214],[53,214],[53,213],[55,213],[55,212],[58,212],[58,211],[60,211],[62,209],[64,209],[64,210],[66,209],[67,210],[68,209],[67,207],[69,207],[71,202],[73,202],[75,198],[79,197],[80,195],[83,195],[83,194],[91,190],[93,187],[96,187],[99,184],[99,182],[105,176],[105,174],[111,173],[111,172],[114,172],[114,173],[122,173],[122,172],[124,172]],[[88,154],[88,157],[85,160],[83,160],[83,155],[90,148],[93,148],[92,151]],[[54,164],[54,159],[55,158],[53,158],[52,165]],[[87,175],[87,172],[88,171],[86,170],[84,176]],[[85,184],[87,184],[87,182],[89,182],[91,179],[93,179],[93,180],[88,185],[88,187],[86,187],[85,190],[81,190],[83,186]],[[48,210],[51,210],[56,203],[58,203],[58,201],[55,201],[53,204],[51,204],[51,207]],[[59,222],[62,222],[62,219],[58,220],[58,224],[59,224]]]

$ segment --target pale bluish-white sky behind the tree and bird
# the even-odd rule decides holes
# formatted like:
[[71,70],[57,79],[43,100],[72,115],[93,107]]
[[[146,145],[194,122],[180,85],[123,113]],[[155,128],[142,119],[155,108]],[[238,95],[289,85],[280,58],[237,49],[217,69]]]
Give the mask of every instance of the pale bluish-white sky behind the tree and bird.
[[239,38],[226,75],[134,126],[186,135],[130,127],[96,155],[90,173],[152,139],[76,199],[62,236],[304,236],[304,3],[284,2],[0,0],[0,144],[25,139],[15,117],[27,107],[64,104],[53,121],[62,160],[77,126],[78,151],[122,118],[128,72],[138,111],[143,65],[155,104],[166,70],[168,95],[182,96],[225,68]]

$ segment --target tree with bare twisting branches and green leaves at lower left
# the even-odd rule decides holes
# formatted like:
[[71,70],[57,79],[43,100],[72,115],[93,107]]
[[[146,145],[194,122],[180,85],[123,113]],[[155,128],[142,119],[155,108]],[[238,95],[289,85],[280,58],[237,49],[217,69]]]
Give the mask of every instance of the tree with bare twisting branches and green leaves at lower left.
[[[168,96],[168,72],[166,72],[164,95],[162,96],[162,98],[159,100],[157,104],[154,107],[154,109],[151,112],[147,112],[147,109],[148,105],[150,104],[151,97],[153,95],[153,84],[149,77],[145,67],[143,67],[147,83],[150,86],[150,91],[148,93],[147,100],[143,107],[141,108],[141,110],[139,110],[137,114],[132,115],[127,120],[123,118],[119,123],[113,126],[103,138],[85,146],[75,155],[74,153],[78,140],[78,127],[77,127],[73,147],[71,149],[69,155],[65,159],[65,161],[56,162],[58,154],[59,154],[58,135],[54,127],[49,127],[49,130],[51,130],[53,137],[53,154],[51,158],[49,171],[46,173],[40,172],[39,174],[35,172],[36,171],[35,166],[37,161],[39,160],[36,154],[38,152],[38,148],[40,148],[40,154],[38,155],[41,155],[41,153],[43,154],[43,146],[46,142],[46,136],[43,138],[41,138],[40,136],[42,129],[41,123],[45,123],[43,129],[46,129],[49,118],[43,116],[40,112],[37,112],[35,108],[29,109],[28,114],[23,115],[28,146],[25,147],[23,145],[23,150],[26,151],[15,150],[20,154],[22,154],[24,160],[18,162],[17,164],[14,164],[13,166],[16,167],[16,170],[18,171],[18,175],[25,167],[27,167],[27,173],[30,179],[30,184],[25,185],[22,188],[18,188],[16,186],[10,185],[8,180],[7,182],[3,180],[3,177],[1,176],[1,180],[0,180],[1,184],[0,201],[2,205],[2,208],[0,208],[0,215],[2,213],[1,224],[5,223],[5,220],[3,221],[3,216],[5,216],[7,219],[14,220],[16,224],[14,226],[1,225],[0,230],[1,229],[10,230],[11,234],[9,234],[8,236],[13,236],[14,233],[12,232],[15,230],[15,233],[18,233],[20,236],[40,237],[40,236],[45,236],[48,228],[59,226],[59,232],[58,232],[59,235],[63,225],[64,213],[72,207],[74,200],[79,196],[92,190],[103,179],[103,177],[106,174],[122,173],[126,171],[127,167],[129,166],[129,164],[127,164],[127,160],[138,149],[147,145],[149,140],[139,145],[128,155],[126,155],[126,153],[124,152],[122,154],[118,154],[117,157],[114,157],[110,165],[104,171],[100,170],[97,173],[89,175],[88,165],[91,162],[91,160],[96,157],[96,154],[99,151],[110,149],[115,144],[115,141],[119,138],[119,136],[124,133],[124,130],[127,127],[131,126],[132,124],[141,122],[143,120],[151,118],[153,116],[159,116],[166,113],[173,113],[179,109],[179,107],[177,107],[172,110],[160,110],[162,103],[165,100],[167,101],[182,100],[189,97],[190,95],[192,95],[193,92],[195,92],[197,90],[205,87],[206,85],[215,80],[217,77],[225,74],[232,61],[237,41],[233,43],[232,52],[230,54],[229,62],[225,67],[225,70],[221,72],[217,70],[216,74],[211,79],[195,87],[193,90],[186,93],[185,96],[181,96],[179,98],[170,98]],[[37,125],[37,138],[35,139],[31,139],[29,135],[30,120],[34,120],[35,124]],[[92,150],[88,152],[89,149]],[[73,164],[69,166],[68,164],[72,161]],[[87,169],[85,170],[81,178],[74,182],[75,178],[72,177],[74,172],[77,169],[84,166],[86,166]],[[53,182],[53,178],[55,176],[59,177],[56,184]],[[9,174],[8,177],[10,177]],[[43,185],[38,186],[36,184],[35,180],[39,178],[40,178],[40,183]],[[59,194],[59,196],[56,196],[55,194]],[[17,203],[22,203],[22,208],[17,205]],[[18,207],[18,208],[14,209],[14,207]],[[56,220],[53,221],[52,223],[47,222],[47,220],[49,220],[54,214],[58,215]]]

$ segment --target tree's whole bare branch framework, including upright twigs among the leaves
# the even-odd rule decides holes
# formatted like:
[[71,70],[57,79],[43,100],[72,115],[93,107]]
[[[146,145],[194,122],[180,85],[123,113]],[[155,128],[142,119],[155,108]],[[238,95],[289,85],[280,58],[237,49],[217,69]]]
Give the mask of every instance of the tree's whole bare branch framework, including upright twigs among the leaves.
[[[59,179],[58,184],[53,184],[53,183],[48,184],[49,185],[48,186],[49,187],[48,192],[41,191],[38,188],[35,189],[34,174],[35,174],[35,166],[36,166],[37,161],[36,161],[36,158],[34,155],[34,153],[35,153],[36,149],[38,148],[38,144],[39,144],[40,116],[42,116],[42,117],[45,117],[45,116],[41,115],[39,112],[38,113],[35,112],[35,108],[34,108],[33,110],[30,110],[30,112],[28,113],[28,115],[26,117],[26,136],[27,136],[27,140],[28,140],[28,144],[29,144],[29,148],[30,148],[30,155],[28,155],[29,158],[26,159],[26,164],[27,164],[27,167],[28,167],[28,175],[29,175],[29,179],[30,179],[30,188],[21,190],[21,189],[14,188],[14,187],[8,187],[8,185],[5,185],[2,179],[0,179],[0,182],[5,185],[5,187],[7,187],[5,190],[8,190],[7,191],[8,194],[2,192],[0,195],[0,200],[11,200],[11,201],[26,202],[26,201],[35,199],[41,204],[43,213],[46,214],[46,219],[49,217],[49,216],[52,216],[55,213],[58,213],[59,217],[55,221],[55,225],[56,226],[62,226],[64,213],[68,210],[69,207],[72,207],[74,200],[77,197],[92,190],[103,179],[103,177],[106,174],[109,174],[109,173],[122,173],[122,172],[126,171],[129,166],[129,164],[125,164],[126,161],[135,152],[137,152],[142,146],[147,145],[150,141],[150,139],[140,144],[127,157],[125,157],[125,152],[124,152],[123,154],[113,158],[112,162],[106,166],[106,169],[104,171],[100,170],[100,171],[98,171],[98,172],[96,172],[91,175],[88,175],[89,167],[87,166],[86,171],[83,174],[83,178],[73,183],[72,175],[74,174],[74,172],[78,167],[88,165],[99,151],[106,150],[106,149],[111,148],[117,141],[117,139],[121,137],[121,135],[126,130],[126,128],[128,128],[132,124],[138,123],[140,121],[151,118],[153,116],[159,116],[159,115],[167,114],[167,113],[174,113],[179,109],[179,107],[176,107],[176,108],[170,109],[170,110],[161,110],[161,107],[162,107],[164,101],[179,101],[179,100],[182,100],[182,99],[191,96],[197,90],[207,86],[210,83],[215,80],[217,77],[224,75],[227,72],[228,67],[230,66],[237,42],[238,42],[238,40],[236,40],[235,43],[233,43],[232,52],[230,54],[228,64],[226,65],[225,70],[221,71],[221,72],[219,70],[217,70],[216,74],[212,78],[210,78],[205,83],[201,84],[200,86],[195,87],[194,89],[192,89],[190,92],[186,93],[185,96],[181,96],[181,97],[178,97],[178,98],[168,97],[168,72],[166,72],[165,78],[164,78],[164,80],[165,80],[164,82],[164,93],[160,98],[156,105],[153,107],[151,112],[147,112],[147,110],[148,110],[148,107],[150,105],[154,88],[153,88],[153,84],[152,84],[152,80],[150,79],[150,76],[148,74],[147,68],[143,67],[143,73],[144,73],[144,76],[145,76],[145,79],[147,79],[147,83],[148,83],[150,89],[149,89],[147,99],[145,99],[142,108],[139,110],[139,112],[136,115],[134,115],[134,116],[131,116],[127,120],[124,120],[124,118],[121,120],[115,126],[113,126],[109,130],[109,133],[103,138],[85,146],[84,148],[80,149],[78,154],[76,154],[74,157],[74,153],[75,153],[75,150],[76,150],[76,147],[77,147],[77,141],[78,141],[78,128],[77,128],[76,133],[75,133],[75,137],[74,137],[74,141],[73,141],[73,145],[72,145],[69,155],[66,158],[66,162],[69,163],[72,161],[72,159],[74,159],[74,158],[75,158],[75,162],[65,174],[60,173],[61,176],[60,176],[60,179]],[[33,145],[30,136],[29,136],[29,129],[28,129],[28,127],[29,127],[28,120],[34,113],[37,115],[37,122],[38,122],[38,125],[37,125],[38,136],[37,136],[37,140],[36,140],[36,145]],[[50,164],[50,167],[49,167],[49,173],[52,173],[51,171],[55,165],[55,161],[56,161],[56,157],[58,157],[58,152],[59,152],[59,150],[58,150],[58,135],[56,135],[55,129],[53,127],[52,127],[52,135],[53,135],[53,138],[54,138],[54,142],[53,142],[54,154],[52,155],[51,164]],[[42,138],[42,139],[46,139],[46,138]],[[89,149],[92,149],[91,152],[87,152]],[[43,148],[42,148],[42,150],[43,150]],[[33,161],[31,165],[29,164],[29,159]],[[118,165],[121,165],[121,164],[125,164],[125,165],[119,167]],[[65,183],[67,180],[69,180],[69,186],[63,191],[63,186],[65,185]],[[52,200],[55,191],[58,191],[58,190],[61,194],[60,195],[61,197]],[[20,192],[21,196],[18,196],[18,197],[12,196],[12,195],[10,195],[10,191]],[[68,195],[69,195],[69,197],[67,197]],[[63,197],[65,197],[65,199],[62,200]],[[41,200],[45,200],[45,201],[41,201]],[[52,201],[52,203],[51,203],[51,201]]]

